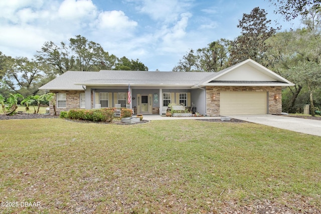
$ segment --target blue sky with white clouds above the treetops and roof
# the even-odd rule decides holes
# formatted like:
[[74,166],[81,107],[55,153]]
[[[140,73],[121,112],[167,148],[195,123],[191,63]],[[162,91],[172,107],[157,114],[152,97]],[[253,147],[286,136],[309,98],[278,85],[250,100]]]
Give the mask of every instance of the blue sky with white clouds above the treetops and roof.
[[0,0],[0,52],[32,59],[45,42],[81,35],[149,71],[172,71],[191,49],[239,36],[239,20],[255,7],[271,27],[299,27],[268,0]]

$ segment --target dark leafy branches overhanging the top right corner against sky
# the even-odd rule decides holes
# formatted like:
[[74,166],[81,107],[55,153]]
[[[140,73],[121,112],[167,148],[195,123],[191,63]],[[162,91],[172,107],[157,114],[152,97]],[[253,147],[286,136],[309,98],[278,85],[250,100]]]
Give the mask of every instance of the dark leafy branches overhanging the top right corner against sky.
[[269,0],[275,7],[275,14],[281,14],[286,21],[290,21],[308,13],[308,10],[313,8],[320,8],[321,0]]

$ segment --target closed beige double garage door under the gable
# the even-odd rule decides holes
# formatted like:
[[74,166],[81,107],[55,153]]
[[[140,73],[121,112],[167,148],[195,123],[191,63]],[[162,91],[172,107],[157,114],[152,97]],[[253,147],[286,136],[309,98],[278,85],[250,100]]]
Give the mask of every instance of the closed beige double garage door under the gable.
[[266,92],[220,92],[220,114],[267,114]]

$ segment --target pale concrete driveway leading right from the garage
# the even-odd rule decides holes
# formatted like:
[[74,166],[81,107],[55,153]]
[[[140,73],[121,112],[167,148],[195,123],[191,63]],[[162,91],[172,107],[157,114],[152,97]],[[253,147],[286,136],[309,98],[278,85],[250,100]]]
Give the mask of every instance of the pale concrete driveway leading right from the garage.
[[231,115],[231,118],[273,126],[305,134],[321,136],[321,120],[310,120],[283,115]]

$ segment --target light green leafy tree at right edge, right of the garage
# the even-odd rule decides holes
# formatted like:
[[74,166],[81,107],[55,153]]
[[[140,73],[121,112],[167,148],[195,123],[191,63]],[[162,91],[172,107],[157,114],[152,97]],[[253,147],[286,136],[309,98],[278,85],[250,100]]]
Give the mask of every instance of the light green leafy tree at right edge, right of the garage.
[[316,12],[313,10],[310,9],[309,13],[303,16],[302,23],[306,25],[306,28],[280,32],[266,41],[273,47],[266,54],[273,70],[295,83],[294,87],[284,90],[285,93],[289,91],[291,96],[282,96],[282,108],[290,113],[297,112],[303,104],[298,102],[305,103],[305,100],[308,100],[297,99],[301,90],[305,90],[307,85],[298,81],[296,70],[291,68],[297,67],[300,63],[319,64],[321,59],[320,28],[319,23],[315,21]]

